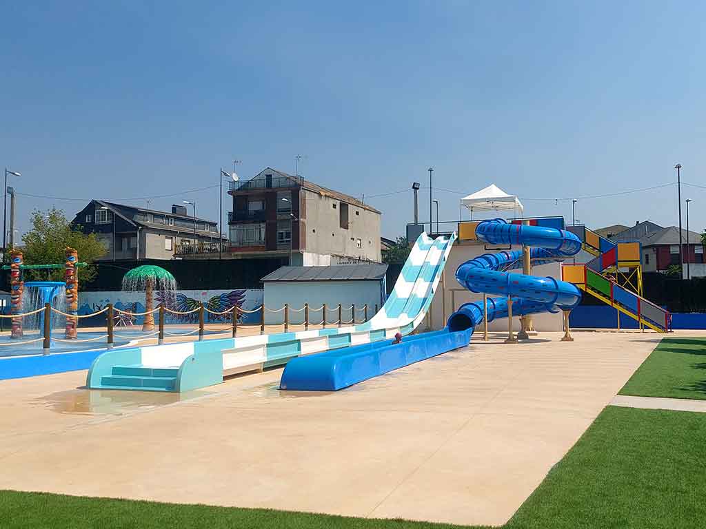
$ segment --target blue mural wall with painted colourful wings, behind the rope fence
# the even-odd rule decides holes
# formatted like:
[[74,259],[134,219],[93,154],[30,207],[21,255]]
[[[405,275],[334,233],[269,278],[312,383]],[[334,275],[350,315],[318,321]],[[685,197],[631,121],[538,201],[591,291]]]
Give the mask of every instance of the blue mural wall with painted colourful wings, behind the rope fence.
[[[249,314],[244,310],[254,310],[263,303],[263,290],[256,288],[239,289],[239,290],[184,290],[176,293],[157,292],[155,296],[155,306],[164,303],[164,305],[172,310],[179,312],[187,312],[198,308],[200,302],[203,302],[208,310],[213,312],[222,312],[236,305],[239,308],[238,322],[244,324],[260,323],[260,314],[258,312]],[[82,292],[78,296],[78,314],[86,315],[91,312],[97,312],[104,308],[108,303],[112,303],[114,308],[129,312],[144,312],[145,310],[145,293],[144,292]],[[129,317],[126,315],[119,316],[120,320],[116,324],[142,324],[143,316]],[[213,315],[205,313],[207,323],[222,323],[230,322],[231,315]],[[123,321],[124,320],[124,321]],[[193,312],[189,315],[171,315],[167,312],[165,319],[166,323],[198,323],[198,312]],[[92,325],[102,326],[105,324],[105,315],[98,315],[94,318],[85,318],[81,320],[81,327],[90,327]]]

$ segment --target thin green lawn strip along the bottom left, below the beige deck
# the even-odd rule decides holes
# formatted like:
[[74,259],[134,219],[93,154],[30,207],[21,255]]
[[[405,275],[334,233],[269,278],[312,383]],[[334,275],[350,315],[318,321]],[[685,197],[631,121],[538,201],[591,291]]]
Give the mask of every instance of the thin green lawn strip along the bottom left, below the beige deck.
[[452,529],[457,525],[0,491],[3,529]]

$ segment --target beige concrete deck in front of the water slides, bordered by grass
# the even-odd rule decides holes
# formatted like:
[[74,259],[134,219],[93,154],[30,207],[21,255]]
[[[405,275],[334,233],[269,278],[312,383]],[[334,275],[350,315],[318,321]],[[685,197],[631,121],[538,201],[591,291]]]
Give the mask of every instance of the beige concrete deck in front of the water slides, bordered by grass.
[[0,489],[500,525],[662,336],[477,333],[335,394],[279,391],[282,370],[182,396],[6,380]]

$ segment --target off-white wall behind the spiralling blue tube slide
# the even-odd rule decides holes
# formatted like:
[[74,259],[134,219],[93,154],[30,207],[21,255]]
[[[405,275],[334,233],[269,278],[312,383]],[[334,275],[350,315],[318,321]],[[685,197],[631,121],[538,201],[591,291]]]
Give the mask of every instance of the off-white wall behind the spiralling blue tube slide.
[[[505,250],[507,247],[503,247]],[[522,247],[518,245],[513,245],[513,250],[520,250]],[[441,282],[436,290],[436,294],[431,302],[431,329],[441,329],[445,326],[446,320],[453,313],[455,308],[460,307],[463,303],[469,303],[472,301],[478,301],[483,299],[482,293],[474,293],[463,288],[458,281],[456,281],[455,273],[456,269],[467,260],[478,257],[484,253],[496,253],[498,250],[486,250],[485,245],[477,243],[455,243],[448,257],[445,267],[445,314],[443,313],[443,303],[441,296]],[[515,272],[522,272],[517,270]],[[550,263],[549,265],[542,265],[539,267],[532,268],[532,275],[534,276],[551,276],[555,279],[561,279],[561,264]],[[452,305],[452,293],[451,290],[455,289],[453,293]],[[496,296],[489,296],[496,297]],[[429,320],[427,320],[428,322]],[[532,315],[532,323],[534,324],[534,329],[537,331],[561,331],[562,330],[562,317],[561,312],[558,314],[542,313]],[[426,322],[425,322],[426,326]],[[488,327],[491,331],[507,331],[508,330],[508,320],[507,318],[501,318],[495,320],[489,324]],[[513,317],[513,328],[515,330],[520,330],[520,318]]]

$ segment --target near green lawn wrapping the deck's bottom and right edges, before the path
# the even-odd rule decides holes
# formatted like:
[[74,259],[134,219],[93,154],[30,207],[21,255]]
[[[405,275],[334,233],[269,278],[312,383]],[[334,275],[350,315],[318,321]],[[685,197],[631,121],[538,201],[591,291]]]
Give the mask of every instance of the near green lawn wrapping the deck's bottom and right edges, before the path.
[[[706,414],[609,406],[506,529],[674,529],[706,520]],[[469,475],[472,471],[469,469]],[[430,491],[433,494],[433,491]],[[453,525],[0,492],[3,529],[443,529]]]

